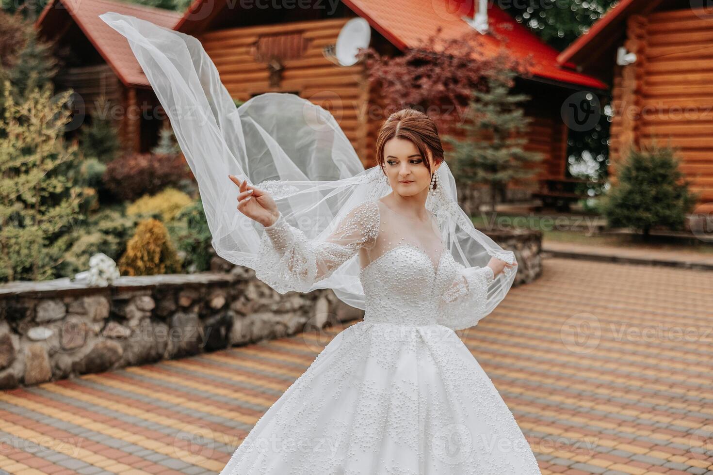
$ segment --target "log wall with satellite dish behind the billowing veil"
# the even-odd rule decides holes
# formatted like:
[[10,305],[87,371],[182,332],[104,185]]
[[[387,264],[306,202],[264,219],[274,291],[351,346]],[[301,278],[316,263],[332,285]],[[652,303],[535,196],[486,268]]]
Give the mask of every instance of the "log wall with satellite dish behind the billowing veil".
[[[364,65],[337,66],[322,53],[324,46],[337,42],[339,30],[347,21],[339,18],[227,28],[203,33],[199,39],[233,98],[245,101],[261,93],[287,92],[309,99],[334,115],[357,155],[366,162],[366,115],[360,114],[369,94]],[[270,82],[264,47],[284,58],[278,85]]]

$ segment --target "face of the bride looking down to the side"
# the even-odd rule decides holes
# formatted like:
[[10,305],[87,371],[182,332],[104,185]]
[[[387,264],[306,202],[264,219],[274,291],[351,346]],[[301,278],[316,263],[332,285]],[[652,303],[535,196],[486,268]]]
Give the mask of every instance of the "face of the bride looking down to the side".
[[[430,154],[430,150],[429,150]],[[394,192],[403,196],[427,193],[431,186],[431,174],[426,160],[411,140],[393,137],[384,144],[384,169]],[[434,172],[441,164],[432,166]]]

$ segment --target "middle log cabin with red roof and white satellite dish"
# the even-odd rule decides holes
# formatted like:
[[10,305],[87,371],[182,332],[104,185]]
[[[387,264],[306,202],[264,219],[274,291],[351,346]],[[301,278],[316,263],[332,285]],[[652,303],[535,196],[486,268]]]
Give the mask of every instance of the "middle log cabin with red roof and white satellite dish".
[[[195,0],[175,29],[201,41],[233,98],[245,101],[261,93],[288,92],[332,112],[364,167],[375,164],[376,134],[386,114],[366,81],[364,64],[337,66],[324,57],[323,49],[334,45],[340,28],[356,16],[369,22],[370,46],[382,54],[399,54],[438,26],[453,37],[472,28],[457,11],[448,11],[446,0],[314,1],[309,3],[312,8],[302,9],[287,8],[288,3]],[[491,28],[507,36],[513,54],[533,55],[532,74],[518,78],[515,87],[515,92],[530,95],[525,113],[535,119],[526,148],[545,156],[532,165],[539,178],[564,178],[568,128],[561,118],[562,104],[580,90],[602,93],[606,85],[558,66],[558,51],[493,2],[488,4]],[[461,13],[472,17],[472,3],[470,11]],[[527,199],[532,185],[511,187],[508,196]]]

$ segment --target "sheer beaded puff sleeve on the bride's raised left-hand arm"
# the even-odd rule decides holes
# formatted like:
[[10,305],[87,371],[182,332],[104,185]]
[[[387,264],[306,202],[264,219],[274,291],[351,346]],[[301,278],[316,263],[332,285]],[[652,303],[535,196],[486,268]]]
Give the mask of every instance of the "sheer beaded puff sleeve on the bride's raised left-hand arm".
[[265,226],[256,259],[255,276],[279,293],[309,292],[314,283],[332,275],[362,246],[371,249],[379,234],[379,209],[364,202],[351,209],[325,239],[309,239],[279,215]]

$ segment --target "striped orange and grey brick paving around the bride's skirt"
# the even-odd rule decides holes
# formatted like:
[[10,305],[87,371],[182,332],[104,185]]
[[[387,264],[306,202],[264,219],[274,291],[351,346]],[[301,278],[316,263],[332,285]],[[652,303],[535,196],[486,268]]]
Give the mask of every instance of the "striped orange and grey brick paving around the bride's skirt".
[[[712,288],[710,271],[546,259],[462,337],[543,474],[710,475]],[[0,393],[0,473],[216,473],[320,340]]]

